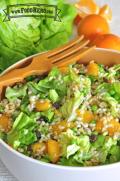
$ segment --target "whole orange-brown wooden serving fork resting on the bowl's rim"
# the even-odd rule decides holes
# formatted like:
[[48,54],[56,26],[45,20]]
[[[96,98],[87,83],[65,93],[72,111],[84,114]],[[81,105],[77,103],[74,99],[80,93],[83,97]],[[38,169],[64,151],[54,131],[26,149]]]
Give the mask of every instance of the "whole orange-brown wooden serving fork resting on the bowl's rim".
[[0,76],[0,90],[2,91],[3,87],[23,81],[27,76],[47,73],[53,66],[63,67],[79,61],[84,54],[94,48],[84,49],[88,44],[89,40],[86,40],[84,36],[80,36],[63,47],[34,57],[29,65],[13,69]]

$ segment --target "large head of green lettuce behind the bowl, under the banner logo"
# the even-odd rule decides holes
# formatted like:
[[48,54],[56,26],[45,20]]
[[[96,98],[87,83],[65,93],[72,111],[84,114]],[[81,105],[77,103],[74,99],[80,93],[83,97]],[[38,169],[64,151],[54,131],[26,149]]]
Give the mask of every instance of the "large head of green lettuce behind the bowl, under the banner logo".
[[[19,4],[27,4],[20,0]],[[31,0],[33,4],[56,5],[61,10],[61,21],[54,18],[22,17],[4,22],[8,5],[18,4],[16,0],[0,1],[0,69],[4,70],[11,64],[68,42],[73,30],[76,8],[64,0]]]

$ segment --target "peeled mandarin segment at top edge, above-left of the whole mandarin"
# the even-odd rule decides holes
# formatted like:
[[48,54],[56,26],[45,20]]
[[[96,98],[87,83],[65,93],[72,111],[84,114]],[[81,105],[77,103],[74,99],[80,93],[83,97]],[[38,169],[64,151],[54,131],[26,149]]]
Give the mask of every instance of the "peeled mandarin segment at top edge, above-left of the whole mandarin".
[[99,6],[93,0],[80,0],[75,4],[75,7],[79,10],[80,17],[99,13]]

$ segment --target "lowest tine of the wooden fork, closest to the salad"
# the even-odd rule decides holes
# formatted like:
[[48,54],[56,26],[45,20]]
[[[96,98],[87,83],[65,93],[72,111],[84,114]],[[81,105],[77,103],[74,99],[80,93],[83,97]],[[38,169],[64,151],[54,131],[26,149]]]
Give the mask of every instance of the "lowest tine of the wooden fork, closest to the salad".
[[80,51],[77,51],[76,53],[72,54],[71,56],[55,63],[54,65],[58,66],[58,67],[64,67],[64,66],[67,66],[69,64],[78,62],[81,59],[81,57],[83,57],[88,52],[92,51],[94,48],[95,48],[95,46],[81,49]]

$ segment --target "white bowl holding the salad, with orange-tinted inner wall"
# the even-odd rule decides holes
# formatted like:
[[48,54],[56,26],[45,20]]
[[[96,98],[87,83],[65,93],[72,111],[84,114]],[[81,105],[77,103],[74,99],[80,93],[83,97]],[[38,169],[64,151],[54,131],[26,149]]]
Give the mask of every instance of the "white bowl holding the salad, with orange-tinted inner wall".
[[[23,66],[31,58],[20,61],[5,72]],[[120,64],[120,52],[95,49],[82,58],[80,62],[87,63],[91,60],[105,65]],[[20,181],[113,181],[114,179],[120,181],[120,162],[94,167],[58,166],[24,156],[13,150],[2,140],[0,140],[0,158]]]

